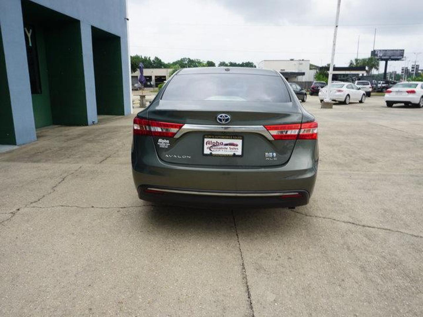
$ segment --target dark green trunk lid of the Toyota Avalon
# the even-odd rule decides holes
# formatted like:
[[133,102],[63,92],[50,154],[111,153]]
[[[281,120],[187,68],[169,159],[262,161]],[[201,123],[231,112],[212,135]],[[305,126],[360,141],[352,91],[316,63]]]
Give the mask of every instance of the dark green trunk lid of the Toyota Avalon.
[[[219,114],[229,115],[231,121],[218,123]],[[289,160],[296,140],[274,140],[263,126],[301,123],[302,112],[291,102],[160,100],[148,110],[148,119],[190,127],[182,128],[176,137],[152,137],[162,161],[249,168]]]

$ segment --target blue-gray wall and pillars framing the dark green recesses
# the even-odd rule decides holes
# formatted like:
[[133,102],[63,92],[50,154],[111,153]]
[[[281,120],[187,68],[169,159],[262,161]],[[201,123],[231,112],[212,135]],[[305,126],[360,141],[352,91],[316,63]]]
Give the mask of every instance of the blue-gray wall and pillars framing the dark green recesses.
[[[91,26],[121,38],[124,112],[131,113],[131,86],[125,0],[32,0],[80,21],[87,123],[97,122]],[[19,0],[0,0],[0,29],[18,145],[36,140],[22,8]]]

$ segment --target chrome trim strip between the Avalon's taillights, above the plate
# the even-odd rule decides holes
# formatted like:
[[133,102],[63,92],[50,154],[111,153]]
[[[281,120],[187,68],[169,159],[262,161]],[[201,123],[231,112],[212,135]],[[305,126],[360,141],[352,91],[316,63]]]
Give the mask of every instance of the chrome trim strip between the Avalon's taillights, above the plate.
[[175,134],[174,138],[179,138],[185,133],[192,131],[203,131],[203,132],[250,132],[258,133],[264,136],[266,139],[273,141],[272,134],[266,130],[264,126],[208,126],[202,124],[184,124],[182,128]]

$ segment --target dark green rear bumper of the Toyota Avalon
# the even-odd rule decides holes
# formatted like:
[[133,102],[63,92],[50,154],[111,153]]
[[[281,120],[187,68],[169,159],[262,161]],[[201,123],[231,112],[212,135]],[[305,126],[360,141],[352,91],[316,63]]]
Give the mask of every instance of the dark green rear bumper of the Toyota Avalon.
[[[288,163],[276,167],[192,167],[186,164],[166,163],[161,161],[157,155],[137,154],[136,150],[132,150],[132,174],[139,197],[148,201],[174,202],[176,205],[197,205],[197,202],[201,201],[205,204],[217,202],[217,205],[222,202],[231,205],[251,203],[256,207],[284,207],[287,206],[287,202],[288,207],[305,205],[313,193],[317,167],[318,146],[316,140],[297,140]],[[233,196],[172,192],[146,193],[145,189],[147,188],[232,193]],[[235,195],[291,191],[301,191],[306,194],[290,200],[266,195],[262,197]]]

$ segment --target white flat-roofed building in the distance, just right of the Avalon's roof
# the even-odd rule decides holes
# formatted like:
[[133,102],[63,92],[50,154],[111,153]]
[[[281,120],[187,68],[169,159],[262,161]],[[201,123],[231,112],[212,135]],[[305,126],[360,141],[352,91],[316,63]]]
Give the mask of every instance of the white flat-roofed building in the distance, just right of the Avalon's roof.
[[280,72],[288,82],[313,82],[316,69],[310,69],[310,60],[262,60],[257,68]]

